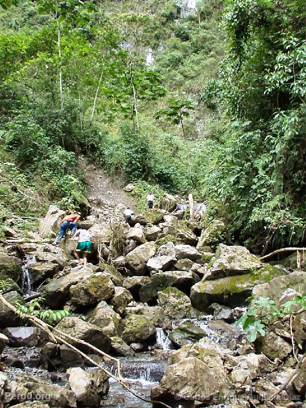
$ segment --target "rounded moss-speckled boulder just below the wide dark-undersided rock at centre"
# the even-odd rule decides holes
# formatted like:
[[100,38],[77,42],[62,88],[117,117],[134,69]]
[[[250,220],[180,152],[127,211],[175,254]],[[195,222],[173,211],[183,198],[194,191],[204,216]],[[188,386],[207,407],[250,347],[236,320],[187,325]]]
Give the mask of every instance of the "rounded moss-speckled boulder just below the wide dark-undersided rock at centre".
[[192,308],[189,297],[177,288],[167,288],[158,292],[158,305],[165,315],[172,319],[199,316],[199,312]]

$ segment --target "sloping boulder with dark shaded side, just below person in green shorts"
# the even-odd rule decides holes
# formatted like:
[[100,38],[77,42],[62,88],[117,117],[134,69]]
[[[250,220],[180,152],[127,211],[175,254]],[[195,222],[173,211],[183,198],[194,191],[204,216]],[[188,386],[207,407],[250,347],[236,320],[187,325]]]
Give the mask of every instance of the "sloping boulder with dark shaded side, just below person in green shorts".
[[43,285],[40,289],[42,297],[46,304],[53,309],[61,309],[63,304],[69,297],[69,289],[72,285],[77,285],[85,276],[88,276],[93,271],[82,268],[79,270],[71,270],[65,276],[57,279],[52,279]]

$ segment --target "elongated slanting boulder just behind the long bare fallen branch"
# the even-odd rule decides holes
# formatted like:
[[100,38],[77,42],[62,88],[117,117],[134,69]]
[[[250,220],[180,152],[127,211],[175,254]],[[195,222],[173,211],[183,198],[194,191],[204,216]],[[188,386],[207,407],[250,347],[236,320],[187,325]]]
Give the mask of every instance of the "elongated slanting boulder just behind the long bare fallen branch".
[[[110,338],[106,336],[100,327],[85,322],[78,317],[64,317],[56,326],[69,336],[78,340],[83,340],[102,351],[108,352],[110,348]],[[91,350],[86,345],[82,345],[74,340],[67,340],[73,346],[79,347],[84,352]],[[92,350],[91,350],[92,351]]]

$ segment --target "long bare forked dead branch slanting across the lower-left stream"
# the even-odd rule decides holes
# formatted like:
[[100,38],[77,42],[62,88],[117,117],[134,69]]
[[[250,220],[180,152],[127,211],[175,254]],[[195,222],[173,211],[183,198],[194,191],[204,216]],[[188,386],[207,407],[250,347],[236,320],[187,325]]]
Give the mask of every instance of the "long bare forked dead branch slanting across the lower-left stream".
[[[35,326],[39,327],[41,330],[43,330],[48,336],[49,339],[55,343],[62,343],[65,344],[67,347],[71,348],[72,350],[74,350],[75,352],[77,352],[78,354],[80,354],[84,359],[86,359],[87,361],[89,361],[92,365],[94,365],[95,367],[99,368],[101,371],[105,372],[108,376],[114,378],[118,384],[120,384],[121,387],[123,387],[126,391],[129,391],[131,394],[133,394],[135,397],[139,398],[140,400],[144,401],[144,402],[149,402],[149,403],[154,403],[154,404],[159,404],[162,405],[166,408],[172,408],[170,405],[167,405],[164,402],[161,401],[155,401],[155,400],[151,400],[148,398],[144,398],[141,395],[138,395],[136,392],[134,392],[133,390],[131,390],[131,388],[129,386],[127,386],[126,384],[124,384],[121,374],[120,374],[120,360],[119,359],[115,359],[113,356],[105,353],[104,351],[99,350],[98,348],[92,346],[91,344],[74,338],[72,336],[67,335],[66,333],[64,333],[63,331],[57,329],[56,327],[50,326],[49,324],[44,323],[42,320],[40,320],[39,318],[35,317],[35,316],[31,316],[31,315],[27,315],[25,313],[22,313],[20,311],[18,311],[11,303],[9,303],[2,294],[0,294],[0,301],[2,301],[2,303],[9,308],[11,311],[13,311],[15,314],[17,314],[18,316],[29,320],[31,323],[33,323]],[[55,331],[56,333],[52,333],[51,330]],[[110,360],[115,360],[118,363],[118,377],[113,375],[111,372],[109,372],[105,367],[101,366],[100,364],[96,363],[94,360],[92,360],[90,357],[88,357],[87,354],[83,353],[81,350],[79,350],[77,347],[74,347],[72,344],[68,343],[65,339],[62,338],[62,336],[66,337],[67,339],[76,342],[76,343],[80,343],[83,344],[95,351],[97,351],[99,354],[102,354],[104,356],[106,356],[107,358],[109,358]]]

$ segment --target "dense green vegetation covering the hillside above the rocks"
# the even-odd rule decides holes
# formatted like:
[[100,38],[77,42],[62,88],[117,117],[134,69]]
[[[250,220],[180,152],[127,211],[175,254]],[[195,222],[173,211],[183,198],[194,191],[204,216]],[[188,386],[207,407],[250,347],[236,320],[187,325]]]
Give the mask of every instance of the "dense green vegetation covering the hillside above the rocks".
[[201,0],[188,13],[158,0],[12,3],[0,11],[0,144],[41,211],[84,202],[84,154],[126,181],[193,192],[253,251],[304,240],[301,0]]

